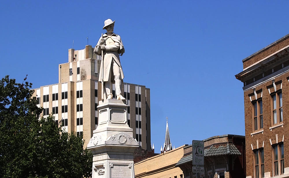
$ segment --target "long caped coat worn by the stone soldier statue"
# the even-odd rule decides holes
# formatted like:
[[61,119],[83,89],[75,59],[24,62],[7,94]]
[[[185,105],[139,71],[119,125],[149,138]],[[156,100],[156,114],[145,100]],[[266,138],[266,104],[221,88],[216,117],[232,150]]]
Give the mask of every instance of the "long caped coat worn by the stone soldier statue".
[[[94,53],[97,53],[98,55],[101,55],[101,48],[99,46],[100,40],[102,37],[99,38],[97,45],[94,48]],[[114,41],[113,45],[108,45],[106,44],[106,40],[108,40],[108,38],[111,38]],[[100,72],[99,72],[99,79],[98,81],[101,82],[102,79],[102,73],[103,73],[103,81],[107,82],[108,80],[112,80],[112,83],[114,83],[114,76],[112,74],[112,78],[109,79],[109,74],[110,74],[110,70],[111,70],[111,64],[112,64],[112,60],[114,60],[118,67],[119,70],[121,72],[121,80],[124,78],[123,75],[123,69],[121,68],[121,62],[119,59],[119,54],[123,54],[125,52],[125,49],[123,47],[123,42],[121,41],[121,37],[117,34],[112,34],[110,36],[108,36],[106,33],[103,34],[103,40],[104,40],[104,45],[105,45],[105,50],[103,50],[103,61],[101,61],[100,64]],[[102,68],[103,66],[103,68]],[[103,70],[102,70],[103,69]]]

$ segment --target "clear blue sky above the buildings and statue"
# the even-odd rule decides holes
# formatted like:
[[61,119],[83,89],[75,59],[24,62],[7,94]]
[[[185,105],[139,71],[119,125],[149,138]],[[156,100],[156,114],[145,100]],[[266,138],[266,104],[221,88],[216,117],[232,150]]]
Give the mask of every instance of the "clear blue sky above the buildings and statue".
[[58,83],[68,48],[115,20],[124,82],[151,89],[151,143],[244,135],[242,59],[289,33],[288,1],[1,1],[0,77]]

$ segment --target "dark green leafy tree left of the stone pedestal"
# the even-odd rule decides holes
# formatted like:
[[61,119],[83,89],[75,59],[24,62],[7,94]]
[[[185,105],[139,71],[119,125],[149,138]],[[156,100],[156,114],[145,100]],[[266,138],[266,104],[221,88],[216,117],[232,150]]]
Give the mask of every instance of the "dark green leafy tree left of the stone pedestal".
[[84,140],[40,115],[32,83],[0,81],[0,177],[90,177],[92,153]]

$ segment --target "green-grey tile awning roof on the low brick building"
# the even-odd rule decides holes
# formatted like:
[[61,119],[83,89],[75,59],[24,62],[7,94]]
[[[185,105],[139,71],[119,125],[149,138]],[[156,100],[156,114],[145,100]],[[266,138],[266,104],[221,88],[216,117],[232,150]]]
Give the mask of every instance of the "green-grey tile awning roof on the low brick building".
[[[210,148],[204,150],[204,156],[220,156],[220,155],[241,155],[240,151],[234,144],[212,145]],[[183,156],[175,166],[192,162],[192,154]]]

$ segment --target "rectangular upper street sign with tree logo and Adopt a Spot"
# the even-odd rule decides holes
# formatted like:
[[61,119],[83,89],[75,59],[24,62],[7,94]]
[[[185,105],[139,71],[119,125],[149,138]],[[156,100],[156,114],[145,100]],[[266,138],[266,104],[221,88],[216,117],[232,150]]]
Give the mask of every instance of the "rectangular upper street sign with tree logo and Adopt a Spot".
[[201,140],[192,141],[192,155],[193,165],[203,166],[204,165],[204,142]]

